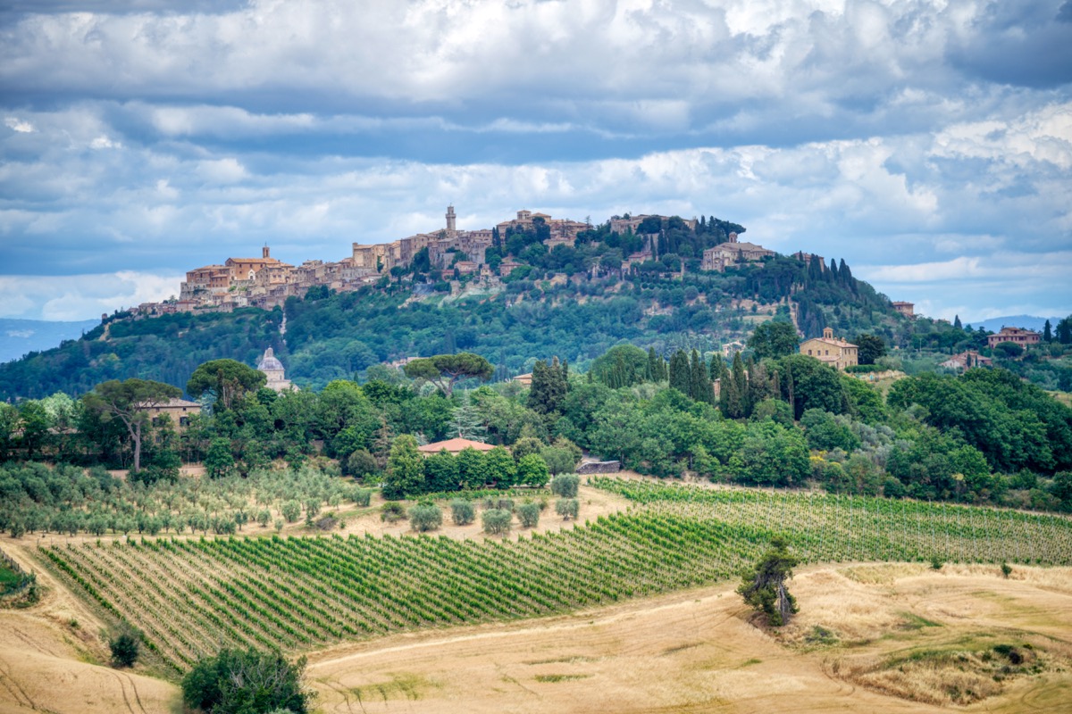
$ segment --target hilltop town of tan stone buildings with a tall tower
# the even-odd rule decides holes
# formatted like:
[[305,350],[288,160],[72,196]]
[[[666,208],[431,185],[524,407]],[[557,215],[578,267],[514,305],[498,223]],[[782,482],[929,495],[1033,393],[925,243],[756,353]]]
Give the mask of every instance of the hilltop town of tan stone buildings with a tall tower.
[[[366,286],[383,287],[391,278],[412,272],[415,265],[450,282],[452,289],[463,282],[495,288],[503,278],[525,264],[508,250],[507,242],[511,236],[533,236],[548,253],[560,246],[575,247],[582,234],[598,240],[591,222],[554,218],[527,210],[518,211],[516,217],[491,228],[476,230],[460,230],[457,227],[453,206],[447,207],[445,218],[444,228],[390,243],[353,243],[351,255],[334,262],[307,260],[300,265],[292,265],[273,258],[266,245],[260,257],[233,257],[222,263],[188,271],[178,298],[143,303],[130,312],[138,316],[157,316],[183,312],[230,312],[239,307],[271,309],[282,306],[287,298],[304,297],[317,286],[336,292]],[[622,256],[621,261],[596,261],[590,272],[592,276],[623,273],[634,265],[657,260],[660,255],[659,226],[680,222],[682,228],[695,231],[702,221],[649,214],[613,216],[606,225],[609,233],[639,238],[639,249]],[[712,221],[715,218],[712,217]],[[498,250],[493,258],[489,258],[489,248],[492,247]],[[742,262],[756,262],[774,255],[773,250],[761,245],[739,241],[738,233],[729,231],[719,244],[703,250],[699,269],[720,272]],[[804,253],[796,254],[796,257],[808,262],[822,260],[819,256]]]

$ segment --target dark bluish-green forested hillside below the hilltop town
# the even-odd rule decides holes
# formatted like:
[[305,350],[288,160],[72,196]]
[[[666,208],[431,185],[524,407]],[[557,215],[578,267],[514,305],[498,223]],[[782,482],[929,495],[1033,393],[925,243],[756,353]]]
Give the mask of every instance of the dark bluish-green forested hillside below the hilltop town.
[[[671,255],[621,278],[575,276],[564,284],[521,271],[527,275],[508,278],[501,292],[458,300],[434,292],[418,300],[406,282],[341,294],[313,291],[287,302],[285,335],[278,309],[116,316],[80,339],[0,365],[0,399],[57,391],[77,396],[105,380],[130,377],[183,386],[198,364],[230,358],[252,365],[268,347],[296,384],[319,389],[382,362],[458,350],[487,358],[500,378],[527,371],[536,359],[551,355],[583,368],[622,341],[662,354],[679,347],[714,351],[745,338],[756,321],[776,313],[795,317],[807,336],[827,325],[840,335],[875,333],[888,344],[909,344],[912,334],[919,344],[918,335],[929,335],[933,328],[941,333],[929,321],[898,316],[883,295],[853,278],[844,261],[828,268],[778,256],[725,273],[684,276],[680,267]],[[950,341],[957,339],[964,339],[959,331]]]

